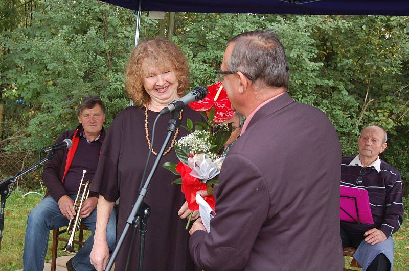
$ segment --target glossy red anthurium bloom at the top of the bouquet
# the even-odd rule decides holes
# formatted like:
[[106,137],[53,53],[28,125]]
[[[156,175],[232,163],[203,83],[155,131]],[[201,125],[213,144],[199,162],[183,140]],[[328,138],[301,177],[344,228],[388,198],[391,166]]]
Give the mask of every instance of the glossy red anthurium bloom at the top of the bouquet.
[[206,114],[209,115],[209,111],[212,107],[215,107],[214,123],[230,120],[234,116],[235,111],[232,110],[232,105],[221,82],[217,82],[207,88],[209,90],[208,95],[200,101],[189,103],[190,108],[195,111],[206,111]]

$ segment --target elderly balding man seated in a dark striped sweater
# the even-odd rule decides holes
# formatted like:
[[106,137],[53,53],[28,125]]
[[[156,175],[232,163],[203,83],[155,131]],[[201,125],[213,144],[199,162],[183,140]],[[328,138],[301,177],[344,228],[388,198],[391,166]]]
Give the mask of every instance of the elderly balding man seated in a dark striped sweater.
[[402,225],[402,183],[399,172],[379,154],[387,147],[387,133],[378,126],[362,129],[359,154],[343,157],[341,185],[368,191],[374,224],[341,221],[343,247],[355,247],[354,258],[363,270],[391,270],[394,241],[392,234]]

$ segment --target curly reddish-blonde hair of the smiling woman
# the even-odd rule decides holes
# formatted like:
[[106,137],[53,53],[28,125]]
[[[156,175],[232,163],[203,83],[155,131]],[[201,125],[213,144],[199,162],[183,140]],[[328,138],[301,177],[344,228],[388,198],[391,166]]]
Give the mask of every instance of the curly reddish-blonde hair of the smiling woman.
[[188,61],[183,51],[172,41],[161,38],[140,42],[133,48],[125,70],[125,89],[135,105],[143,106],[150,101],[144,88],[144,67],[171,69],[178,81],[177,94],[182,96],[190,87]]

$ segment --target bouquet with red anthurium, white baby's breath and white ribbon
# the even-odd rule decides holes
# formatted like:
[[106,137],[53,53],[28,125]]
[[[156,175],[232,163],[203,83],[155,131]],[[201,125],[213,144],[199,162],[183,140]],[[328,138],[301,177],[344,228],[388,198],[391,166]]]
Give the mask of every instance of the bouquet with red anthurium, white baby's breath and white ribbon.
[[[187,119],[187,126],[182,127],[190,134],[177,140],[174,146],[179,162],[163,165],[175,175],[180,175],[173,182],[181,184],[181,191],[192,211],[199,209],[195,199],[199,190],[208,191],[209,196],[204,199],[214,210],[213,188],[218,184],[218,174],[225,157],[224,144],[232,132],[231,124],[223,122],[235,115],[221,82],[207,88],[209,93],[204,99],[189,104],[193,110],[203,114],[206,122],[193,123]],[[192,213],[186,228],[191,216]]]

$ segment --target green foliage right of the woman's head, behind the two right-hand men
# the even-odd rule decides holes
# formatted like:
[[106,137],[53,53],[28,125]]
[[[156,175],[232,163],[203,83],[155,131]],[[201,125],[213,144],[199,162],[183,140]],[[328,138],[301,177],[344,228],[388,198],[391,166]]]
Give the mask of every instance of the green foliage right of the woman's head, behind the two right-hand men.
[[274,29],[290,63],[289,93],[328,115],[343,155],[357,154],[363,127],[379,125],[389,134],[382,158],[400,170],[404,181],[409,178],[407,17],[178,15],[174,41],[189,58],[193,85],[214,80],[231,37]]

